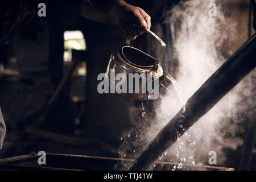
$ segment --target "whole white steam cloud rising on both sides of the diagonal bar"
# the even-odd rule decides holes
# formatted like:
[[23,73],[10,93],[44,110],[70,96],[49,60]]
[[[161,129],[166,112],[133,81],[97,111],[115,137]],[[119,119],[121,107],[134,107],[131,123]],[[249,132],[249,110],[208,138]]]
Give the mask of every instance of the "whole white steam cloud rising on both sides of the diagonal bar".
[[[178,60],[176,81],[183,96],[188,99],[234,52],[230,47],[236,43],[237,24],[234,19],[225,17],[225,2],[215,1],[217,17],[209,16],[212,0],[181,2],[166,13],[166,22],[175,24],[173,42],[175,59]],[[172,75],[172,74],[171,74]],[[250,100],[253,91],[251,74],[240,82],[217,105],[191,127],[171,146],[160,160],[182,164],[208,164],[208,152],[217,152],[217,165],[225,161],[223,147],[236,150],[243,143],[236,137],[243,132],[240,113],[246,113],[253,105]],[[171,96],[173,93],[173,96]],[[127,131],[121,138],[120,158],[135,158],[156,134],[170,121],[183,106],[175,90],[160,96],[160,105],[155,110],[156,119],[146,121],[150,126],[137,126]],[[131,108],[131,112],[136,108]],[[137,110],[138,111],[138,110]],[[246,117],[246,116],[245,116]],[[134,118],[131,118],[133,120]],[[146,118],[145,118],[146,119]],[[181,126],[182,127],[182,126]]]

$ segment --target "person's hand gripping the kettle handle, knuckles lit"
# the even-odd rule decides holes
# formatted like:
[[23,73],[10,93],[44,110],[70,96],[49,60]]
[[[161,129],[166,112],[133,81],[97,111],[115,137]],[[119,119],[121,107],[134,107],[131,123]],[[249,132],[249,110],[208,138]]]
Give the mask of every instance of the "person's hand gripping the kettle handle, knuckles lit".
[[137,36],[150,29],[150,16],[141,8],[125,4],[121,7],[118,24],[122,28],[126,39],[134,40]]

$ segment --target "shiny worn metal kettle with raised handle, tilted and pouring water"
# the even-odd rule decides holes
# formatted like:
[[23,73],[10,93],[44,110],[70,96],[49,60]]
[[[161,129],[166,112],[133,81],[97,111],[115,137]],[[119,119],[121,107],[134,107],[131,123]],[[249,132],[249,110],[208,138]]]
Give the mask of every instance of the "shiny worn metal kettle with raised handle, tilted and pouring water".
[[[137,48],[131,47],[130,40],[127,39],[126,45],[118,51],[113,52],[110,56],[109,64],[105,74],[109,80],[110,75],[113,74],[113,72],[115,76],[118,73],[125,73],[125,75],[128,75],[128,73],[150,73],[153,77],[156,75],[159,77],[159,85],[161,82],[163,82],[166,75],[163,75],[163,69],[159,64],[159,61],[163,57],[166,44],[154,32],[148,29],[146,29],[146,31],[153,35],[154,38],[160,42],[161,48],[159,56],[155,58]],[[117,83],[118,81],[115,81],[115,84]],[[126,96],[138,101],[148,100],[151,95],[150,93],[142,93],[141,91],[139,93],[121,94],[122,96]]]

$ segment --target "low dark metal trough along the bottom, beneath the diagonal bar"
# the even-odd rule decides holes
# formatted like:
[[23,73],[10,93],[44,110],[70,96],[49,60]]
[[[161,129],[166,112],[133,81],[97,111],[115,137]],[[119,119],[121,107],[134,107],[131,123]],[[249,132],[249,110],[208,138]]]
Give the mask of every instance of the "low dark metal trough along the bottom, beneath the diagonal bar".
[[[46,165],[38,164],[38,154],[15,156],[13,158],[0,159],[0,170],[114,170],[118,163],[129,164],[133,159],[108,158],[102,156],[68,155],[46,153]],[[157,169],[172,169],[176,163],[155,162]],[[218,166],[183,165],[191,170],[234,171],[234,168]],[[115,169],[116,170],[116,169]]]

